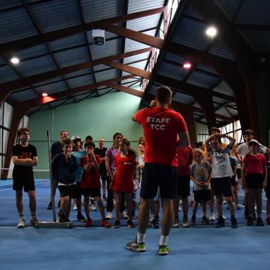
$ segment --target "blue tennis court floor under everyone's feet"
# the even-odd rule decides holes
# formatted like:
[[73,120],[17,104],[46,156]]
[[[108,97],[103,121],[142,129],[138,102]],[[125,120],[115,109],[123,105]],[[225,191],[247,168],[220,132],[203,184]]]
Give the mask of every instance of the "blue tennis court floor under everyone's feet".
[[[36,180],[37,213],[41,221],[52,220],[51,211],[46,210],[49,194],[48,180]],[[242,201],[240,193],[239,203]],[[28,198],[24,194],[28,226],[16,229],[18,215],[11,180],[0,180],[0,203],[0,269],[269,269],[270,226],[247,227],[242,217],[244,211],[237,210],[239,228],[232,229],[226,205],[226,227],[217,229],[215,223],[198,222],[190,228],[172,228],[171,253],[161,257],[158,255],[160,229],[148,228],[147,250],[136,253],[125,249],[126,242],[136,237],[136,229],[127,228],[125,220],[121,220],[120,229],[102,228],[99,212],[93,211],[92,228],[74,222],[72,229],[36,229],[28,222]],[[265,211],[266,200],[263,204]],[[74,210],[70,217],[75,220]],[[200,217],[201,207],[198,221]],[[264,212],[264,220],[265,217]],[[113,225],[114,220],[110,223]]]

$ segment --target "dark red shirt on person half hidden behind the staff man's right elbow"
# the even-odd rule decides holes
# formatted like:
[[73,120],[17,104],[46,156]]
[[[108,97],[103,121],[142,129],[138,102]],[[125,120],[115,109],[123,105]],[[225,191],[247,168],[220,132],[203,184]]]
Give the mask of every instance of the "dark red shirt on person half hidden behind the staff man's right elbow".
[[176,153],[179,175],[190,175],[190,165],[193,162],[193,148],[177,148]]

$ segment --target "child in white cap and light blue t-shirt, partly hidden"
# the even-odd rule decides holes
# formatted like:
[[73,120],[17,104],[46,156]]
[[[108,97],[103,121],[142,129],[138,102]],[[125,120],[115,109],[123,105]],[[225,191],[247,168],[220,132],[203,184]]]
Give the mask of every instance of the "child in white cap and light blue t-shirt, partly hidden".
[[75,156],[77,161],[77,170],[74,172],[76,189],[75,189],[75,199],[77,206],[77,221],[86,222],[85,217],[82,215],[82,194],[80,190],[80,181],[82,180],[82,167],[80,166],[80,161],[85,157],[85,150],[81,149],[82,140],[79,136],[72,136],[71,141],[73,144],[72,156]]

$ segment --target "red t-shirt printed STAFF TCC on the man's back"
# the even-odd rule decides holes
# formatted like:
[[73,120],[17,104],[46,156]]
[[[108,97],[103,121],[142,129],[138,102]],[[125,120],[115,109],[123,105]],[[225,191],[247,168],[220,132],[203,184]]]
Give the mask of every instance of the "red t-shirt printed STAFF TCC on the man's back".
[[172,109],[152,107],[137,112],[136,121],[144,129],[144,161],[177,167],[177,134],[187,130],[182,115]]

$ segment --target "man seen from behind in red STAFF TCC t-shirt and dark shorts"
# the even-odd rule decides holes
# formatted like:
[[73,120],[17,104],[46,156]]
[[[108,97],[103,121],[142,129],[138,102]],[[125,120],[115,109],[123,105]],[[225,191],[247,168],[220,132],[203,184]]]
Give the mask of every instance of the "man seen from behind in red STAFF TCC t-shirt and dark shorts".
[[[158,87],[156,100],[150,108],[141,109],[132,120],[143,126],[145,138],[145,166],[141,180],[141,207],[137,239],[126,244],[126,249],[146,251],[144,244],[149,210],[156,196],[158,186],[163,208],[159,254],[170,252],[168,234],[173,221],[173,199],[177,193],[178,162],[176,148],[190,145],[185,120],[178,112],[168,109],[171,104],[171,90]],[[178,136],[180,138],[179,143]]]

